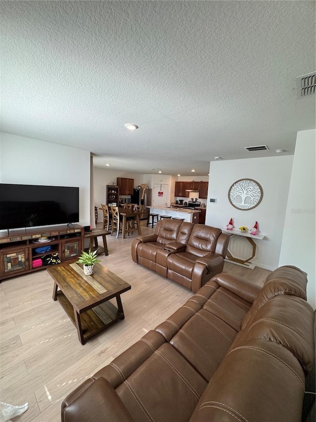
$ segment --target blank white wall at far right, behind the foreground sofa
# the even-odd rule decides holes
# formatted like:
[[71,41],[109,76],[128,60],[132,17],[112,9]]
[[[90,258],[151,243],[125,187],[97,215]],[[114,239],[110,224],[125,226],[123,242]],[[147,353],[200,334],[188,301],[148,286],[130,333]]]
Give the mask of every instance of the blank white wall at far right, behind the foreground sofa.
[[316,130],[298,132],[286,206],[279,265],[308,274],[307,300],[316,308],[315,272]]

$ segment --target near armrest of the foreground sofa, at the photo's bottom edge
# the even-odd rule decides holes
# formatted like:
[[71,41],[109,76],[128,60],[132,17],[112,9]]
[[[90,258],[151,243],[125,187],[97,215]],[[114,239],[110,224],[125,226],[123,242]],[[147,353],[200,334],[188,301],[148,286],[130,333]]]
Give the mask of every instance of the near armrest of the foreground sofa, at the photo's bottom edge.
[[134,422],[115,389],[100,377],[81,384],[62,403],[63,422]]

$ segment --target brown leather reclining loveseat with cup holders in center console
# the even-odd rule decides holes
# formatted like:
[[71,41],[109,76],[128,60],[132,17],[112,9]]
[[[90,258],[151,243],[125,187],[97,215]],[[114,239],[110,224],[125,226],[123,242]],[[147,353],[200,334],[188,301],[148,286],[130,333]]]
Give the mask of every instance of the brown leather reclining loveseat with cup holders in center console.
[[215,227],[164,219],[154,234],[133,241],[132,259],[197,292],[223,271],[229,238]]

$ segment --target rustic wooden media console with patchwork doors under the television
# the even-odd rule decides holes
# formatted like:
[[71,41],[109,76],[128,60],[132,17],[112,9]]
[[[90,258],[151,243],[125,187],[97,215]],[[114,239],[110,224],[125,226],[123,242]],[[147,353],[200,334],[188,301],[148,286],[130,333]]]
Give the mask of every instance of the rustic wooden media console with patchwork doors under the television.
[[[52,240],[36,243],[40,237]],[[33,267],[33,261],[49,254],[58,253],[62,262],[74,259],[83,249],[83,238],[83,227],[78,224],[72,228],[61,225],[0,233],[0,281],[47,268],[47,265]],[[50,245],[50,251],[38,253],[35,250],[47,245]]]

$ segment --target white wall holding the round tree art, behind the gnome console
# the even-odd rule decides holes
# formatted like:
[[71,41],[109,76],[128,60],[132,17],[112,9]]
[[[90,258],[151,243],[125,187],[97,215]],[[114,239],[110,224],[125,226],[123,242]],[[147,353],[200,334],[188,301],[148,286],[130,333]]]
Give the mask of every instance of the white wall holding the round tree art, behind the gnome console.
[[[210,163],[205,224],[224,228],[233,217],[235,228],[246,226],[252,229],[258,221],[259,231],[266,238],[256,240],[257,252],[252,262],[268,270],[278,267],[292,163],[292,155]],[[238,210],[228,200],[231,185],[243,178],[254,179],[263,188],[263,199],[253,210]],[[210,198],[216,198],[217,202],[210,203]],[[244,248],[245,252],[247,248],[250,250],[246,239],[240,236],[234,236],[230,244],[230,250],[238,247]],[[234,256],[237,256],[235,251]],[[243,257],[248,256],[251,255]]]

